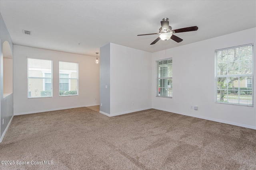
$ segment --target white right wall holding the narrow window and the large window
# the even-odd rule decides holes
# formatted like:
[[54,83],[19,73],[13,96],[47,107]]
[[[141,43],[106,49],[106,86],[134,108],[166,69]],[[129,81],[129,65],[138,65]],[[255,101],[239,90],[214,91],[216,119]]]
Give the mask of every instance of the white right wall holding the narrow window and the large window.
[[[255,102],[254,107],[214,102],[214,50],[249,43],[254,43],[255,90],[256,28],[153,53],[152,107],[256,129]],[[173,98],[156,97],[155,62],[170,57],[173,61]],[[254,101],[255,94],[254,91]],[[191,105],[199,106],[199,110],[190,109]]]

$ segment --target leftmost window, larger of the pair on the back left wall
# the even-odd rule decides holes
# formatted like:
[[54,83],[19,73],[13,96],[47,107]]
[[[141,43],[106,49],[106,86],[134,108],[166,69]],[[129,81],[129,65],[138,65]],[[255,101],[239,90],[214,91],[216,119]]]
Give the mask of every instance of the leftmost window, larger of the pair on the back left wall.
[[52,97],[52,61],[28,58],[28,98]]

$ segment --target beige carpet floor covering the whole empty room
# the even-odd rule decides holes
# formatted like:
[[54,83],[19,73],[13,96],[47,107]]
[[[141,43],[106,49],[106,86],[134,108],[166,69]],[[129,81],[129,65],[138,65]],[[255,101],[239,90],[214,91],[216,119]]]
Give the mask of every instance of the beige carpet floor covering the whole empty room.
[[156,109],[107,117],[81,107],[14,116],[0,160],[14,161],[1,170],[256,170],[256,130]]

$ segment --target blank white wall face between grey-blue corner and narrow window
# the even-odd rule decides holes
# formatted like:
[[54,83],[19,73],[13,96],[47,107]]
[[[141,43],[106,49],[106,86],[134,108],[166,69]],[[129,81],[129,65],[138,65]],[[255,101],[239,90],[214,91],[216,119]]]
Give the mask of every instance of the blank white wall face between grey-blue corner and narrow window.
[[152,53],[110,43],[110,115],[152,107],[151,60]]

